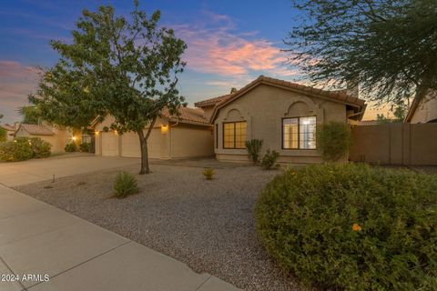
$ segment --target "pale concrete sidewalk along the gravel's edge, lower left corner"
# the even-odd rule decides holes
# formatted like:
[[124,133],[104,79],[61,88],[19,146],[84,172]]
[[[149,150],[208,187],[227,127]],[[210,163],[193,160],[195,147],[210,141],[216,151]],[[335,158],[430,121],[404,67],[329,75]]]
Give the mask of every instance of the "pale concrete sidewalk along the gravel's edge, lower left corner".
[[239,290],[2,185],[0,232],[2,291]]

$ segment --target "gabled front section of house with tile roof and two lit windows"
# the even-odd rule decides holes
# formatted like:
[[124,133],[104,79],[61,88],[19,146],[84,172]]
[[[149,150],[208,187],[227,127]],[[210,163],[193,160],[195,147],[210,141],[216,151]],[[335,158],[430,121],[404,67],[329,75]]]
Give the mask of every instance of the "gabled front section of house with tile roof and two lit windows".
[[326,91],[265,76],[230,95],[195,104],[214,125],[219,160],[248,161],[245,142],[262,139],[280,162],[320,163],[316,125],[360,121],[366,105],[345,91]]

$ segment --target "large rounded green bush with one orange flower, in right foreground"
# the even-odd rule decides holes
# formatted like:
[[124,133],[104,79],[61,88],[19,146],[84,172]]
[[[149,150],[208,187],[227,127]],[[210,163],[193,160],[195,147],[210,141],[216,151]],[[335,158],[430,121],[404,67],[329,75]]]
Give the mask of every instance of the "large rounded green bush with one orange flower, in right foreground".
[[436,290],[437,176],[365,165],[288,169],[259,196],[259,237],[303,282]]

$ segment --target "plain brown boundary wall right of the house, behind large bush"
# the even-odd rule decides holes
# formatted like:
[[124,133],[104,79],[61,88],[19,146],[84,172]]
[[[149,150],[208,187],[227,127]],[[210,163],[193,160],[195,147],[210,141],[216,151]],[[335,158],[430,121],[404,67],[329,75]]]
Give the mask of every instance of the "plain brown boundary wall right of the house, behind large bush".
[[437,124],[354,126],[352,137],[352,161],[381,165],[437,165]]

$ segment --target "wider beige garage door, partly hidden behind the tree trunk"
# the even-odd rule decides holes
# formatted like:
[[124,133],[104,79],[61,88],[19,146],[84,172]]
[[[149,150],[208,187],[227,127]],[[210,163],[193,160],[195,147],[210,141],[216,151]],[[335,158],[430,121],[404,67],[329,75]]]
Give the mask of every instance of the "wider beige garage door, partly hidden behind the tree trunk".
[[[159,128],[153,129],[147,140],[148,157],[159,158],[161,135]],[[136,133],[121,135],[121,156],[140,157],[139,138]]]

